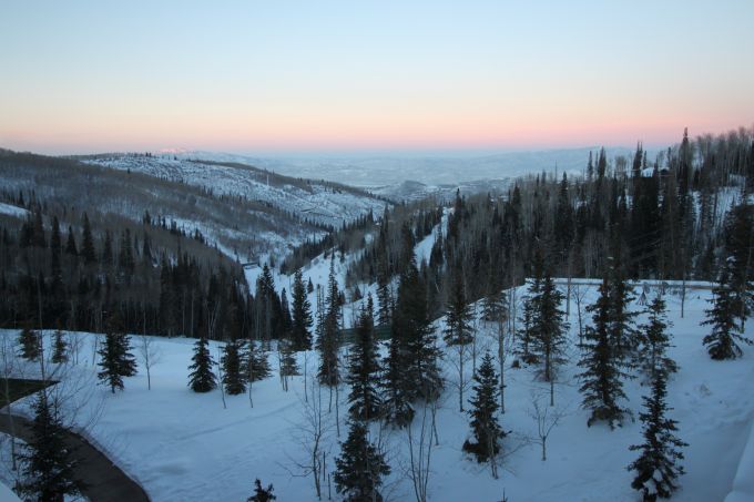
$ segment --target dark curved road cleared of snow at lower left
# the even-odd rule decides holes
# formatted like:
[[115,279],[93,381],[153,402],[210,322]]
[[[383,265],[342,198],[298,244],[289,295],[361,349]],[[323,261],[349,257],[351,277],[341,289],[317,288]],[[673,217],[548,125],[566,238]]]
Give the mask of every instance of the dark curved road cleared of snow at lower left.
[[[12,416],[17,438],[28,441],[31,437],[30,421]],[[0,431],[11,433],[8,413],[0,413]],[[67,441],[72,447],[72,455],[79,462],[77,477],[86,483],[83,494],[92,502],[149,502],[150,498],[139,483],[83,437],[67,431]]]

